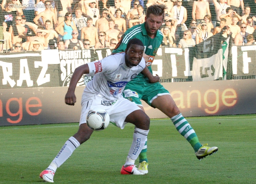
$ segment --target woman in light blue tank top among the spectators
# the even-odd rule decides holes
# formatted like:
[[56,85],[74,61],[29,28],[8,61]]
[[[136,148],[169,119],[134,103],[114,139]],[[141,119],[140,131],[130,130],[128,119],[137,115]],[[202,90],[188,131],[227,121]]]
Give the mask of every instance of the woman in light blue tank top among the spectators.
[[72,20],[71,12],[65,14],[65,20],[61,22],[55,30],[62,36],[64,41],[72,38],[72,31],[76,30],[76,26],[74,20]]

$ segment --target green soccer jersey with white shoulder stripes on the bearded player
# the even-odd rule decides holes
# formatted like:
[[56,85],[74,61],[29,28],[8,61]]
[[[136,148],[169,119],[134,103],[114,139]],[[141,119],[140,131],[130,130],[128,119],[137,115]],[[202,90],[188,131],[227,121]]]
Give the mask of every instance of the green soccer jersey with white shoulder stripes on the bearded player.
[[[156,32],[156,37],[153,39],[148,36],[148,33],[146,31],[145,22],[139,25],[134,25],[130,29],[128,29],[124,35],[122,35],[121,43],[118,43],[116,48],[112,51],[112,53],[120,53],[124,52],[127,46],[127,43],[133,39],[138,38],[142,41],[144,44],[144,53],[148,55],[148,62],[146,62],[146,66],[152,73],[151,65],[154,61],[154,57],[156,55],[156,52],[158,48],[160,47],[162,40],[163,40],[163,34],[160,30]],[[148,80],[146,76],[144,76],[142,73],[139,73],[136,78],[133,80]]]

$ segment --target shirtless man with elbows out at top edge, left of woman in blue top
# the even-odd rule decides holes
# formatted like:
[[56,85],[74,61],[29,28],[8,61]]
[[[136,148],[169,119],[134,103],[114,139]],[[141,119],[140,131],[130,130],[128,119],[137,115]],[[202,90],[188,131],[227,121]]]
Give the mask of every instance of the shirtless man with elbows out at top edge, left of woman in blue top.
[[[52,23],[54,22],[55,27],[56,27],[58,25],[58,21],[56,20],[56,16],[55,16],[54,12],[51,11],[51,6],[52,6],[51,2],[49,0],[46,0],[46,2],[44,2],[44,4],[45,4],[45,10],[43,12],[41,12],[40,14],[38,14],[34,18],[34,22],[36,23],[36,25],[44,25],[46,20],[50,20],[51,25],[53,25]],[[38,23],[38,19],[41,17],[43,20],[43,24]]]

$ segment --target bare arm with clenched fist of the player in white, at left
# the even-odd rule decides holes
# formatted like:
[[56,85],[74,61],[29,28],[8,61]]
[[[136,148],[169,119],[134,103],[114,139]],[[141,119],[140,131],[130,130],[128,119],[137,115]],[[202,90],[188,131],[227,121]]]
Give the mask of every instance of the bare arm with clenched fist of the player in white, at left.
[[68,87],[68,92],[66,93],[65,96],[65,103],[74,106],[76,103],[76,95],[75,95],[75,89],[76,89],[76,84],[80,80],[83,74],[88,74],[89,73],[89,67],[87,64],[81,65],[80,67],[77,67],[72,74],[70,84]]

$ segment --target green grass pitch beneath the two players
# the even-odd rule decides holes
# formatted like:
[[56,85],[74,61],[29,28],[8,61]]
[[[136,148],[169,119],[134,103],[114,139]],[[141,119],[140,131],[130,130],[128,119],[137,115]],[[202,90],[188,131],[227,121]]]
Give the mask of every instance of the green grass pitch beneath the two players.
[[[202,161],[169,119],[152,119],[149,173],[121,175],[134,126],[94,132],[58,168],[57,184],[255,184],[256,115],[188,117],[200,143],[219,151]],[[0,184],[40,184],[39,174],[74,135],[78,123],[0,127]],[[136,161],[138,164],[138,161]]]

